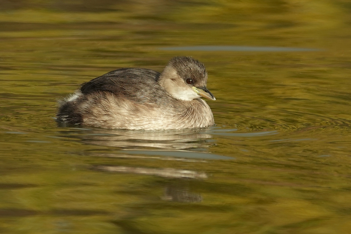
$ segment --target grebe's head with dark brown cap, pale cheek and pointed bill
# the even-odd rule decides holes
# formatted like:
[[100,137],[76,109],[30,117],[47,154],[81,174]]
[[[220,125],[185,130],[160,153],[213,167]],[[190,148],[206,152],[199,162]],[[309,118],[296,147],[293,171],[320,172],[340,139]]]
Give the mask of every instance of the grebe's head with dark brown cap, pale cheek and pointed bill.
[[171,59],[161,73],[158,83],[175,99],[190,101],[204,97],[216,100],[206,88],[205,66],[191,57]]

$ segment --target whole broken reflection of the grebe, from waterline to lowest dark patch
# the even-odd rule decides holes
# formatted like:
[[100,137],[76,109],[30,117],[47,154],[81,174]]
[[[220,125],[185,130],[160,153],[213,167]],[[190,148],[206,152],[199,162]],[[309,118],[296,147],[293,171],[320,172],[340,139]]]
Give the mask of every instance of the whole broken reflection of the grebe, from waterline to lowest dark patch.
[[[212,135],[208,129],[183,129],[168,131],[143,131],[126,129],[102,129],[102,128],[64,128],[61,136],[80,139],[81,142],[91,145],[108,146],[111,150],[84,151],[86,156],[93,158],[111,158],[111,165],[99,165],[95,163],[90,167],[93,171],[104,173],[142,174],[145,176],[158,176],[167,181],[161,200],[168,202],[201,202],[202,196],[191,192],[191,186],[187,181],[206,180],[207,174],[202,171],[191,171],[181,168],[164,168],[161,163],[158,166],[130,167],[118,165],[119,158],[137,160],[138,165],[144,160],[174,160],[183,162],[203,163],[206,159],[224,157],[208,152],[214,145]],[[115,149],[118,149],[116,152]],[[229,157],[226,157],[229,158]],[[222,159],[222,158],[221,158]],[[117,164],[117,165],[116,165]]]

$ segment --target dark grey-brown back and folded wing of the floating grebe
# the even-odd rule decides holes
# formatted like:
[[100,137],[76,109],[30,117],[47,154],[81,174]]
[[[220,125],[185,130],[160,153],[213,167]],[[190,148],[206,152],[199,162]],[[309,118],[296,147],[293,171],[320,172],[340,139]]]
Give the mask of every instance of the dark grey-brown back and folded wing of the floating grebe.
[[122,68],[84,83],[83,94],[110,92],[138,103],[166,101],[170,95],[157,83],[159,72],[144,68]]

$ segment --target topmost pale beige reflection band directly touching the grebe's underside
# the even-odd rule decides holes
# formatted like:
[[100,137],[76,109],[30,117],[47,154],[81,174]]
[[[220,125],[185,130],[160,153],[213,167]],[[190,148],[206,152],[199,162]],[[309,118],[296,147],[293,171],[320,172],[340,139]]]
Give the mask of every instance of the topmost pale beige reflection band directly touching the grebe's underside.
[[65,128],[61,134],[90,145],[119,147],[122,150],[190,151],[213,145],[206,129],[143,131],[102,128]]

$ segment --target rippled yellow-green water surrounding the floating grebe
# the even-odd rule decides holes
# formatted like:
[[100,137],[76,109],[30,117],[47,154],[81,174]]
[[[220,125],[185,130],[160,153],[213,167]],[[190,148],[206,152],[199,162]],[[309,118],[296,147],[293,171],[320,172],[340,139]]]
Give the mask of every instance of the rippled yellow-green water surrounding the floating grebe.
[[[319,51],[160,49],[199,45]],[[55,123],[80,83],[175,55],[206,65],[215,127]],[[351,233],[350,79],[347,0],[1,1],[0,233]]]

